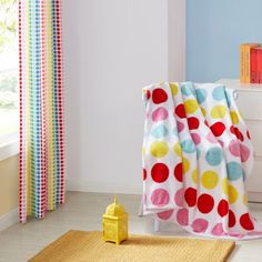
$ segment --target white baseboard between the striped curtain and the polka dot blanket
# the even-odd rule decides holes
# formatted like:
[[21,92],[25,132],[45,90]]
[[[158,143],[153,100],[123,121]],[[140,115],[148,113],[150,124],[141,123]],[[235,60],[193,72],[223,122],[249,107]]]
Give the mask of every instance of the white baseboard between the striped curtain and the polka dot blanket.
[[67,190],[97,193],[142,194],[142,182],[141,184],[118,184],[93,181],[67,181]]

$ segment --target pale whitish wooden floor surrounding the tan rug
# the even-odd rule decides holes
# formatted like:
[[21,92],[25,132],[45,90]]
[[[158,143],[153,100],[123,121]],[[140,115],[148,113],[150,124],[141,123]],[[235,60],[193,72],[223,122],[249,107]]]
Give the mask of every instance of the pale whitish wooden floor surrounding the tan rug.
[[[101,230],[101,218],[113,194],[68,192],[67,203],[44,220],[31,219],[0,232],[0,261],[27,261],[68,230]],[[139,195],[121,194],[119,201],[129,213],[129,232],[152,234],[153,221],[139,218]],[[251,203],[251,212],[262,223],[262,204]],[[154,233],[155,234],[155,233]],[[175,224],[161,224],[158,234],[190,236]],[[233,262],[262,261],[262,240],[240,241],[230,258]]]

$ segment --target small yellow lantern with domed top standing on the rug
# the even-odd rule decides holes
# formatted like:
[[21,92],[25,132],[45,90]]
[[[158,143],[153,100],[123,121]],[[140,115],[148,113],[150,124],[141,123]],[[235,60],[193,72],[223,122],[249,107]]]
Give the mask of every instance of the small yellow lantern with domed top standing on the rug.
[[103,240],[120,244],[128,239],[128,214],[124,208],[114,202],[107,208],[103,214]]

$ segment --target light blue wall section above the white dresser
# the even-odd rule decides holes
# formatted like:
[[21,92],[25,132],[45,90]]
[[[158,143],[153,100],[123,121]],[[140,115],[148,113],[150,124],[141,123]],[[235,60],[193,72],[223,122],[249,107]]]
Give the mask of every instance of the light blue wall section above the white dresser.
[[239,78],[242,42],[262,42],[262,0],[187,0],[187,80]]

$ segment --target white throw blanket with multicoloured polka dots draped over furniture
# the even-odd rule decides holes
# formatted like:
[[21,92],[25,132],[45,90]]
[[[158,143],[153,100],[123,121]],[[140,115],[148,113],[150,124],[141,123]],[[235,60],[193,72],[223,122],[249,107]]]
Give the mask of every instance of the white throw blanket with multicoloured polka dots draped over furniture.
[[143,100],[143,214],[199,235],[262,238],[248,206],[254,152],[234,91],[157,83]]

